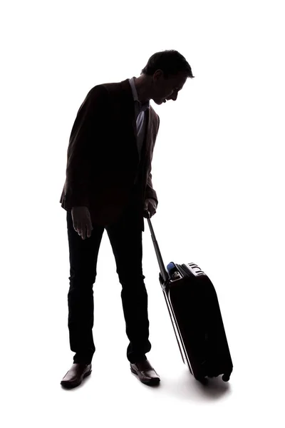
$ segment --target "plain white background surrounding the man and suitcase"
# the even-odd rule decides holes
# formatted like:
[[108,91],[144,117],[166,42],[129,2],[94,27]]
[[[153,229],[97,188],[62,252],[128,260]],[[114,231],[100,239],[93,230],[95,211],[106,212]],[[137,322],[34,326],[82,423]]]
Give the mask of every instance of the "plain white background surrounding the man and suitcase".
[[[3,427],[284,427],[282,3],[1,7]],[[73,352],[59,198],[71,127],[90,88],[140,76],[165,49],[180,51],[195,78],[177,101],[151,101],[160,116],[152,225],[165,265],[197,263],[214,283],[234,371],[229,383],[217,379],[204,389],[183,365],[145,223],[147,357],[160,387],[130,374],[121,286],[105,233],[94,285],[93,372],[66,391],[60,382]]]

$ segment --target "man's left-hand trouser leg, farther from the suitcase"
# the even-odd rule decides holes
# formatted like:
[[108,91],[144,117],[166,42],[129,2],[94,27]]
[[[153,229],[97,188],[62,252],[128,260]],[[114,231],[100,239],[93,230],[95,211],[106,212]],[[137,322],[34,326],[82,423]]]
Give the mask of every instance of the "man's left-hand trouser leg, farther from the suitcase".
[[93,284],[96,277],[98,251],[103,226],[93,225],[90,238],[83,240],[73,228],[71,213],[67,213],[70,260],[68,291],[68,329],[73,363],[90,364],[95,352],[93,342]]

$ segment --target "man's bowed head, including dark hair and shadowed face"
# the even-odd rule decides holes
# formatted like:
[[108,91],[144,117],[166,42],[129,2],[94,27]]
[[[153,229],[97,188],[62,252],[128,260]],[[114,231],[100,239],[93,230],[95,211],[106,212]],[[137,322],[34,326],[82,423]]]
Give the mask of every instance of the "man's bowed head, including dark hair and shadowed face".
[[165,99],[175,101],[187,78],[194,78],[190,64],[177,51],[162,51],[153,54],[135,79],[140,102],[152,99],[162,104]]

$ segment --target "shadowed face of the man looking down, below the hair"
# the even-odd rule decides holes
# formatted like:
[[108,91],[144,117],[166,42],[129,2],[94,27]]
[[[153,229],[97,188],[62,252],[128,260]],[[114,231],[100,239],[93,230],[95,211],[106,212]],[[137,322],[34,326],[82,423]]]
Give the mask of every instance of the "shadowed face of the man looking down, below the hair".
[[162,104],[170,100],[175,101],[178,92],[183,88],[186,81],[187,76],[185,76],[185,74],[180,73],[177,76],[169,76],[169,78],[166,79],[163,77],[161,70],[155,71],[152,81],[154,90],[153,101],[155,101],[156,104]]

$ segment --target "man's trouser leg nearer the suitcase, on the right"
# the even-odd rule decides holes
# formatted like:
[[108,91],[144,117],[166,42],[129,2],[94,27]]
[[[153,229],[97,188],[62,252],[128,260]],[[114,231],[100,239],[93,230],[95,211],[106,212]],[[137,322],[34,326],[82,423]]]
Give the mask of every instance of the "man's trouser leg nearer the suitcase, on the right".
[[140,211],[130,206],[117,223],[106,230],[113,248],[117,273],[122,285],[126,333],[130,362],[145,360],[151,349],[147,316],[147,290],[142,275],[142,230]]

